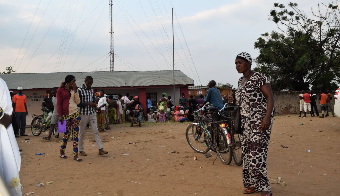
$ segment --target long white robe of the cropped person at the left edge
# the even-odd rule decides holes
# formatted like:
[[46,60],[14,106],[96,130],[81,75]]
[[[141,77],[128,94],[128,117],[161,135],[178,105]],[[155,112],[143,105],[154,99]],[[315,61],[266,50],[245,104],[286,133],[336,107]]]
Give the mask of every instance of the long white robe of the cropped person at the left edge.
[[[0,115],[12,114],[12,101],[5,81],[0,78]],[[19,178],[21,157],[12,124],[7,129],[0,125],[0,177],[10,195],[22,195]]]

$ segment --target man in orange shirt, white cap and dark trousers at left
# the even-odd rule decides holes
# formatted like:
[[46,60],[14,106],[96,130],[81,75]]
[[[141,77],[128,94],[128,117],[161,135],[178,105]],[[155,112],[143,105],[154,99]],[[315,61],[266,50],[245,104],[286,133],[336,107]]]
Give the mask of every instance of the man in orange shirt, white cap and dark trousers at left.
[[[26,95],[22,94],[22,87],[18,87],[18,94],[14,95],[13,103],[15,108],[15,115],[17,119],[18,127],[20,127],[20,135],[27,136],[25,133],[26,129],[26,116],[28,115],[27,110],[27,99]],[[19,126],[20,125],[20,126]]]

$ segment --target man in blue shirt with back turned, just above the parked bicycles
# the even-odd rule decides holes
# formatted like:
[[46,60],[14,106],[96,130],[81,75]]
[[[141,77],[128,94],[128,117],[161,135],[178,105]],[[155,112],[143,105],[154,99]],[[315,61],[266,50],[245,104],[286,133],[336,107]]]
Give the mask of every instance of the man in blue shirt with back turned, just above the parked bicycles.
[[223,108],[224,104],[223,104],[223,99],[222,99],[221,93],[215,87],[215,85],[216,85],[215,80],[209,81],[209,83],[208,83],[209,89],[208,89],[207,95],[205,96],[204,102],[200,105],[201,108],[207,102],[212,104],[212,106],[217,107],[219,110],[221,110]]

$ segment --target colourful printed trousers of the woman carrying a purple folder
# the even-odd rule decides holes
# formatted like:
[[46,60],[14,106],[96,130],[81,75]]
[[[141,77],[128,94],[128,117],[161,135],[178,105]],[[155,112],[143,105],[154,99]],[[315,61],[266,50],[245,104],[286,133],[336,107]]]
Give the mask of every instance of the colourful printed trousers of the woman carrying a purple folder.
[[66,120],[66,132],[64,133],[60,150],[65,152],[67,140],[72,134],[73,156],[76,156],[78,155],[78,133],[80,125],[79,111],[71,115],[63,115],[63,118]]

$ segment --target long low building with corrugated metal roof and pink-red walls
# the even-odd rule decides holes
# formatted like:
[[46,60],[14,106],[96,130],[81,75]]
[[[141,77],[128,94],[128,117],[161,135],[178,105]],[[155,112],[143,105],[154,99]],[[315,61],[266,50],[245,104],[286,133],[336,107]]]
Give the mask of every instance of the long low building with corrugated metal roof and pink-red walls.
[[[193,86],[193,80],[182,71],[175,70],[175,95],[173,95],[173,71],[96,71],[96,72],[61,72],[61,73],[11,73],[0,74],[8,89],[17,92],[17,88],[23,88],[23,94],[27,97],[27,109],[31,114],[41,114],[41,102],[45,94],[53,88],[58,88],[67,75],[76,78],[77,86],[84,84],[86,76],[94,79],[92,88],[95,92],[104,90],[107,95],[125,96],[129,93],[138,96],[143,109],[147,109],[147,97],[156,106],[162,98],[162,93],[171,96],[174,105],[179,105],[181,93],[189,97],[188,87]],[[31,124],[30,118],[26,118],[27,125]]]

